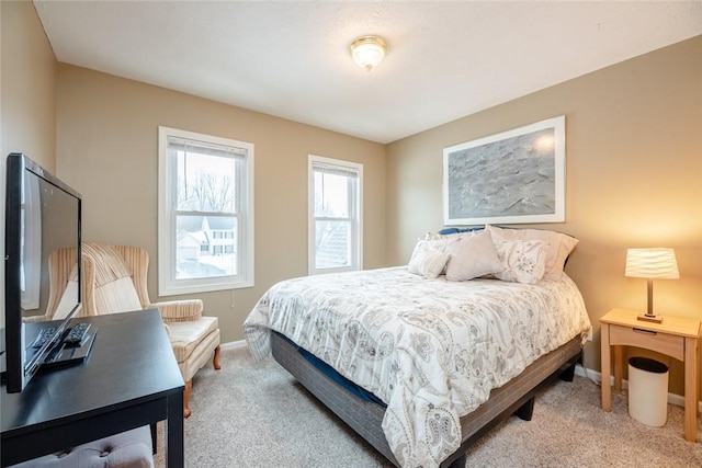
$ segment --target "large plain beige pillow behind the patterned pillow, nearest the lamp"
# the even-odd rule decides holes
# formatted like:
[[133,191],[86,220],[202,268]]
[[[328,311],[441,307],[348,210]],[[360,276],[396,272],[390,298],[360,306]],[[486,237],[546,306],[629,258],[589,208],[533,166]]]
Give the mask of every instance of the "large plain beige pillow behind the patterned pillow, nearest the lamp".
[[492,236],[492,241],[506,240],[542,240],[548,246],[546,248],[546,273],[545,276],[557,279],[563,274],[563,266],[566,259],[573,252],[578,239],[570,236],[542,229],[502,229],[496,226],[486,225],[485,229]]

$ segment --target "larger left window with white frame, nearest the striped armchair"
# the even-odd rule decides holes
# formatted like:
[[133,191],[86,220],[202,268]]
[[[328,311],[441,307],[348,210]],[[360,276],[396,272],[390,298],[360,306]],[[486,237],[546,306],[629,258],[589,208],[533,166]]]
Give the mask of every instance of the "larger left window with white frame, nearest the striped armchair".
[[253,286],[253,145],[159,127],[159,295]]

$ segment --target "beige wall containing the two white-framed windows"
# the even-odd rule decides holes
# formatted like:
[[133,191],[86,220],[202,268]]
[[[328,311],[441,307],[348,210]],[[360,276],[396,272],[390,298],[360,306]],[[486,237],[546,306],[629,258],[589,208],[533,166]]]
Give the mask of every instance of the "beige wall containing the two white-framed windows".
[[[307,155],[363,163],[364,266],[385,265],[383,145],[149,84],[59,65],[58,172],[83,195],[83,238],[141,246],[157,297],[157,132],[163,125],[254,145],[256,286],[202,298],[223,341],[275,282],[307,274]],[[163,298],[169,299],[169,298]]]

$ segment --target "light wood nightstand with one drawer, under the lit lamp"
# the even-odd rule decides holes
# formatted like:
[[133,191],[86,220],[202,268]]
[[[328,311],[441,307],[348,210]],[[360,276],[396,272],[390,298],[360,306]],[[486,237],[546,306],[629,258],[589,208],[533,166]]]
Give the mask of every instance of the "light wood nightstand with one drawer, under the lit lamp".
[[700,320],[663,316],[661,323],[636,319],[637,312],[612,309],[602,323],[602,410],[612,410],[610,346],[614,346],[614,390],[622,390],[623,346],[637,346],[684,364],[684,438],[698,435]]

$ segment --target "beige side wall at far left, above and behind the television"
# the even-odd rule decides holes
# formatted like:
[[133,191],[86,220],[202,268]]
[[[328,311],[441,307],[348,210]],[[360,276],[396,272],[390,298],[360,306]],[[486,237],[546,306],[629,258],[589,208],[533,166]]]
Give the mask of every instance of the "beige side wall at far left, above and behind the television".
[[[0,2],[0,213],[4,214],[10,152],[24,152],[49,172],[56,169],[56,58],[29,0]],[[4,215],[0,215],[0,251],[4,252]],[[4,307],[4,269],[0,285]]]

